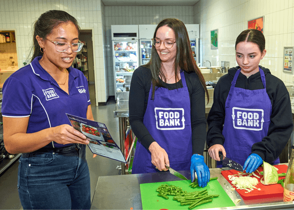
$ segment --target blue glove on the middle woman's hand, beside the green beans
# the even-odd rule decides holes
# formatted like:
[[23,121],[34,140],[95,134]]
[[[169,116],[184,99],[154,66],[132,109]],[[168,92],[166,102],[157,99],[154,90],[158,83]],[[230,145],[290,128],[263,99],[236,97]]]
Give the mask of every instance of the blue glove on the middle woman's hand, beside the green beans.
[[210,179],[210,172],[208,166],[204,162],[204,157],[202,155],[194,154],[191,157],[191,181],[195,181],[195,172],[197,174],[198,185],[200,187],[205,187]]

